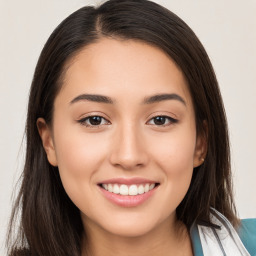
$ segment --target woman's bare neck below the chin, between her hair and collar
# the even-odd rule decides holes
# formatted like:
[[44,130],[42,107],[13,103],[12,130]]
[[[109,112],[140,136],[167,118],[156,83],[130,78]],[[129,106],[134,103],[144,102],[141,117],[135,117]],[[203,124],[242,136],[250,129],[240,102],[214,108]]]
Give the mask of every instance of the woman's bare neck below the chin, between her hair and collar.
[[147,234],[136,237],[118,236],[93,225],[86,225],[82,256],[192,255],[187,229],[176,219],[168,219]]

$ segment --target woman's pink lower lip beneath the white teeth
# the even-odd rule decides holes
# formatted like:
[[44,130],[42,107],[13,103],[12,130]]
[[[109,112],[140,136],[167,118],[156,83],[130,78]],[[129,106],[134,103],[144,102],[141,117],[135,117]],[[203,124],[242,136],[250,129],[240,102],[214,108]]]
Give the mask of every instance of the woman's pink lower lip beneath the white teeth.
[[143,204],[154,194],[157,187],[153,188],[152,190],[150,190],[146,193],[140,194],[140,195],[122,196],[120,194],[115,194],[115,193],[109,192],[109,191],[105,190],[104,188],[102,188],[101,186],[99,186],[101,192],[109,201],[111,201],[112,203],[114,203],[116,205],[122,206],[122,207],[135,207],[135,206]]

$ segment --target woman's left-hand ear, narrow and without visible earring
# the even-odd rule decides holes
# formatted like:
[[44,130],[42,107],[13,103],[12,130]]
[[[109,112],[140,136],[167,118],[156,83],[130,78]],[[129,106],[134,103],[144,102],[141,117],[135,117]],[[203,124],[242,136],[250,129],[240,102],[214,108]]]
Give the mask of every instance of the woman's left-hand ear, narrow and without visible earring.
[[50,127],[46,124],[43,118],[38,118],[36,125],[49,163],[53,166],[57,166],[57,157]]

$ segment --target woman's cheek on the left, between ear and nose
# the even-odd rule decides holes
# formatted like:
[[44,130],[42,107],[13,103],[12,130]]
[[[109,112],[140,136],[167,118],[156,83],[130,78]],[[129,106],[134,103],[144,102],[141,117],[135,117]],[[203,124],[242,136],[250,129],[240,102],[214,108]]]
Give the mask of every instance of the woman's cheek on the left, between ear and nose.
[[65,128],[55,134],[58,169],[64,189],[74,204],[84,205],[84,200],[89,207],[87,195],[95,186],[94,173],[104,161],[108,145],[102,145],[104,140],[96,133],[88,136]]

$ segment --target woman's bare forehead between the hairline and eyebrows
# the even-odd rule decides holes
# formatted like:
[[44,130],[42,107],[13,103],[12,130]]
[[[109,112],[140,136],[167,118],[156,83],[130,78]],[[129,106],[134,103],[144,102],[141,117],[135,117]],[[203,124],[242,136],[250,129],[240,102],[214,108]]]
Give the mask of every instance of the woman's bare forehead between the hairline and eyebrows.
[[67,63],[60,94],[120,93],[146,97],[178,93],[191,102],[186,79],[161,49],[135,40],[103,38],[84,47]]

